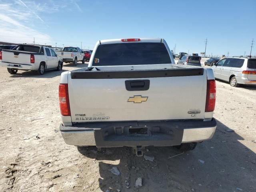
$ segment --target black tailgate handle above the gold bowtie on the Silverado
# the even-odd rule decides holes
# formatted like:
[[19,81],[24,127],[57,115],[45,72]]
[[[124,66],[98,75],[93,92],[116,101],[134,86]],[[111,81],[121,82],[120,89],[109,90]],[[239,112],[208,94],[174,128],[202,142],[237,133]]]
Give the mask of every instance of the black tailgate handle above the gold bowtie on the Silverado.
[[125,88],[128,91],[146,91],[149,89],[150,80],[126,80]]

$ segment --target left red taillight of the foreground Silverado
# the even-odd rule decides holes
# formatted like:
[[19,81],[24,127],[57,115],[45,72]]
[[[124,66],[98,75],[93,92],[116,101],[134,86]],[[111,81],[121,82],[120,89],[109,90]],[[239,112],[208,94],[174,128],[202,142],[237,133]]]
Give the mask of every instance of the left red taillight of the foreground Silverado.
[[59,85],[60,113],[63,116],[70,116],[70,106],[68,98],[68,84]]

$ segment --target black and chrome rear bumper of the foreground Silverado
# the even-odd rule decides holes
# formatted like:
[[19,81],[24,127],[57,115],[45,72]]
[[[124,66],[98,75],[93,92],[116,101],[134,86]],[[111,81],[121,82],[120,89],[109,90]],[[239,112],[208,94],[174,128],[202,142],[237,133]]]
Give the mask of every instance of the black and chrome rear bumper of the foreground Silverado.
[[[130,130],[144,128],[147,134],[131,135]],[[216,120],[95,122],[76,126],[60,125],[66,144],[75,146],[174,146],[212,138]]]

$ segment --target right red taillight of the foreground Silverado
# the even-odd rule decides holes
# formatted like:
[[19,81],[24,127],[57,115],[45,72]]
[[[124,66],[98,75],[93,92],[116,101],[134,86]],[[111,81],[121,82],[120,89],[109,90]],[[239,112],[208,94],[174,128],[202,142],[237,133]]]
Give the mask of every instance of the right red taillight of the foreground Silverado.
[[205,112],[213,112],[216,101],[215,80],[207,80]]

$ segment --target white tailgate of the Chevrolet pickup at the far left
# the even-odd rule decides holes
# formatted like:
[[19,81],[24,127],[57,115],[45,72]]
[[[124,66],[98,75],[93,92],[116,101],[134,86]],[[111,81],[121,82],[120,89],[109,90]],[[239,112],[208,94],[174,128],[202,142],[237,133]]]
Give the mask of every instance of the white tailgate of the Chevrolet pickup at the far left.
[[2,62],[28,64],[30,63],[30,54],[30,52],[25,51],[4,50],[2,52]]

